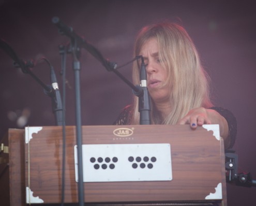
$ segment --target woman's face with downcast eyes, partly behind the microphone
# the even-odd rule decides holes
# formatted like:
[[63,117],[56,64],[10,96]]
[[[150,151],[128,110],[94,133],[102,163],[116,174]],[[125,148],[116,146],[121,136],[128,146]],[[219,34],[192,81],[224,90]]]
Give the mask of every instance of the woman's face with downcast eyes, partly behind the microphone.
[[159,46],[156,38],[149,39],[142,46],[140,55],[143,56],[147,72],[147,88],[153,101],[157,104],[170,102],[170,87],[167,84],[167,74],[159,59]]

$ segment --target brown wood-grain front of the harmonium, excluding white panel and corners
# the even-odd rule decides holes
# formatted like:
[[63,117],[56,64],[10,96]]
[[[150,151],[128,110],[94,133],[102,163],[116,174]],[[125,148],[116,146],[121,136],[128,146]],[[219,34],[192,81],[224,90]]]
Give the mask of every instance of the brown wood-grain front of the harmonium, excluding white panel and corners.
[[[83,144],[170,143],[172,181],[84,183],[85,202],[157,202],[205,200],[223,182],[221,141],[212,131],[188,125],[130,125],[131,136],[113,131],[123,126],[83,126]],[[62,127],[43,127],[25,144],[25,185],[45,203],[61,202]],[[222,143],[223,144],[223,143]],[[66,127],[65,202],[78,202],[74,174],[76,128]],[[28,156],[29,146],[29,156]],[[223,151],[222,151],[223,152]],[[28,160],[29,157],[29,160]],[[30,171],[28,176],[28,162]],[[159,171],[161,173],[161,171]],[[224,185],[225,186],[225,185]]]

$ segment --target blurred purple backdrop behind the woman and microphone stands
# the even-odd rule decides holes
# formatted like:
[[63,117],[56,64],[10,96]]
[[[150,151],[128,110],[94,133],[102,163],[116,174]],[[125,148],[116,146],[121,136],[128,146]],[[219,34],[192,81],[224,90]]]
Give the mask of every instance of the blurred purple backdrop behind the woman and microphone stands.
[[[132,59],[134,38],[141,27],[168,19],[182,24],[197,46],[212,78],[216,106],[237,118],[239,172],[256,179],[256,12],[253,1],[0,1],[0,38],[23,60],[45,56],[53,64],[59,85],[61,61],[58,45],[69,39],[52,24],[58,16],[105,58],[118,65]],[[236,1],[237,2],[237,1]],[[130,104],[131,89],[108,72],[92,55],[81,54],[81,104],[83,125],[111,125]],[[33,72],[50,84],[46,62]],[[128,79],[130,65],[120,72]],[[74,81],[71,55],[67,56],[66,122],[75,124]],[[8,128],[54,125],[51,100],[29,75],[14,68],[0,49],[0,134]],[[252,203],[256,188],[227,185],[229,205]]]

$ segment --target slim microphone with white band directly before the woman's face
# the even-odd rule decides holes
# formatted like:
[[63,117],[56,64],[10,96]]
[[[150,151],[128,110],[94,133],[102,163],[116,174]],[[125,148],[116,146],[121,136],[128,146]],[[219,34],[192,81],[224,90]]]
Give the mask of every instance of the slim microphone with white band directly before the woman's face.
[[140,112],[140,124],[150,125],[150,96],[147,90],[147,72],[144,63],[144,58],[141,56],[141,70],[140,70],[140,87],[143,93],[139,96],[139,112]]

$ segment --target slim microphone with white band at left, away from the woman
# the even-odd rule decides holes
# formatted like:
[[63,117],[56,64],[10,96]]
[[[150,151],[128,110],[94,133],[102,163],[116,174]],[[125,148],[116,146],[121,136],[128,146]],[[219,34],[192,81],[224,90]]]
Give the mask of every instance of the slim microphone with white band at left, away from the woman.
[[55,124],[57,126],[61,126],[63,124],[62,98],[61,98],[61,93],[59,92],[59,89],[58,89],[58,82],[57,82],[57,78],[56,78],[53,66],[51,66],[50,68],[50,79],[51,79],[52,88],[54,90],[53,95],[51,95],[51,97],[52,97],[52,110],[55,115]]

